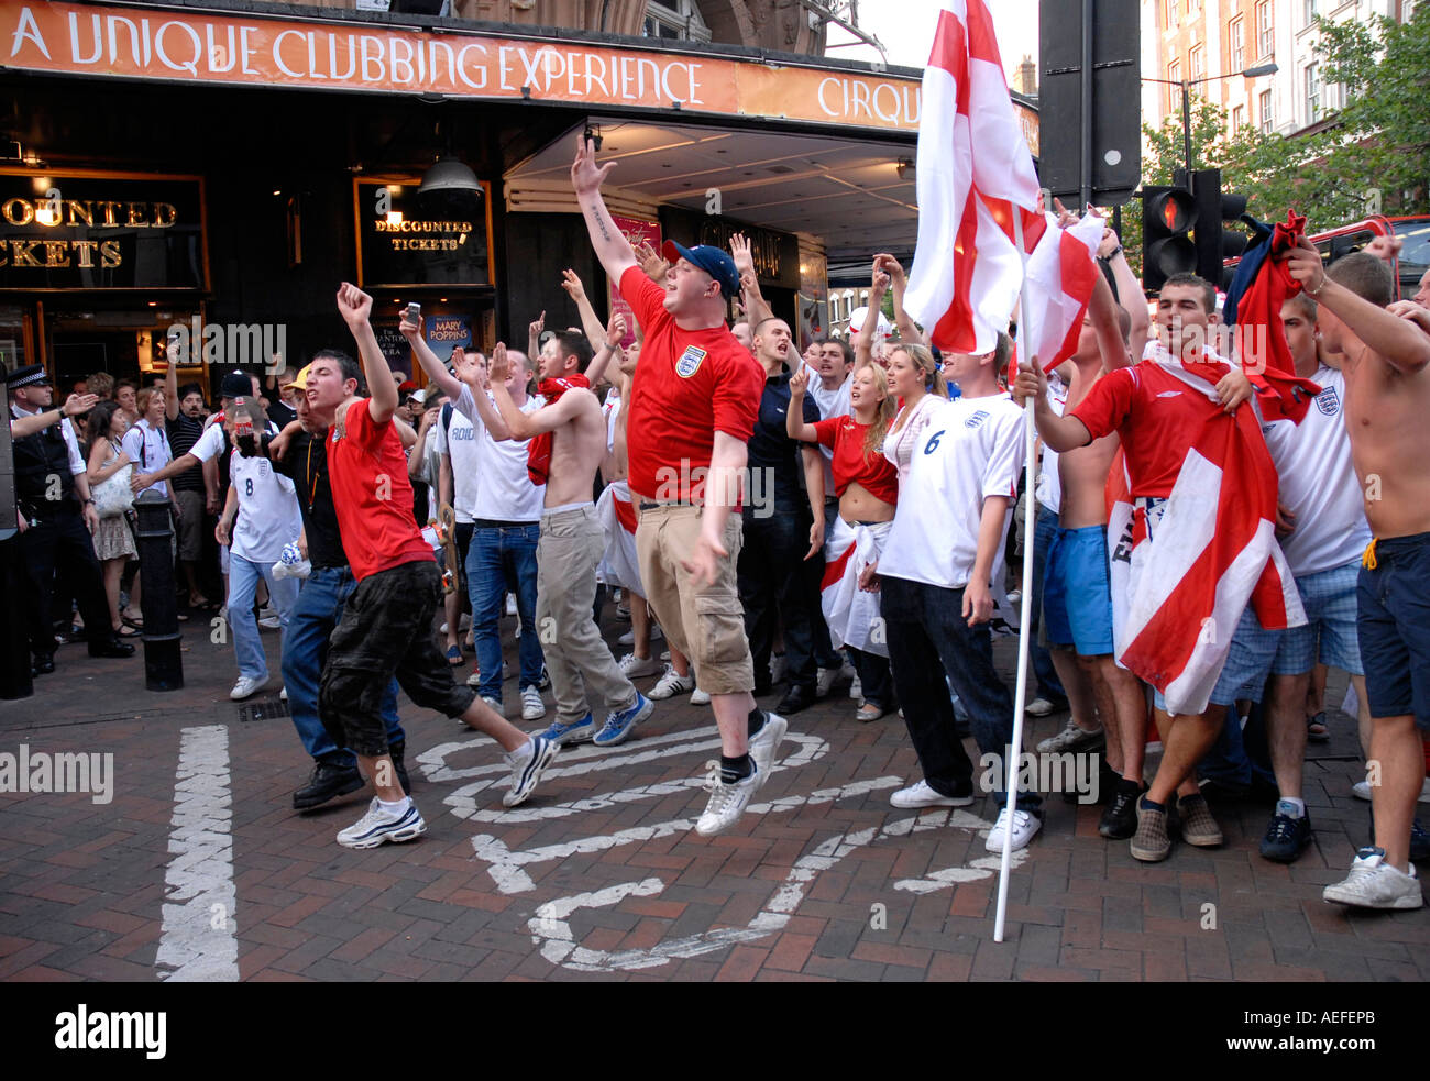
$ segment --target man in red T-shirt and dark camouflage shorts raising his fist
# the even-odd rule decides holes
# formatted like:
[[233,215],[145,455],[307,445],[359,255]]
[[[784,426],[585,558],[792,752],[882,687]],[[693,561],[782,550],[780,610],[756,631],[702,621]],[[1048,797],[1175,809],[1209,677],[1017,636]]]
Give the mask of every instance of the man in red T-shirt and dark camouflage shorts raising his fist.
[[358,380],[337,360],[320,356],[309,366],[307,400],[315,420],[330,432],[333,506],[358,579],[329,643],[319,715],[342,725],[342,742],[378,789],[368,814],[343,829],[337,844],[375,848],[383,841],[412,841],[428,828],[388,755],[380,702],[393,676],[419,706],[460,718],[500,744],[512,766],[512,784],[502,796],[506,806],[532,794],[558,746],[529,738],[479,701],[475,689],[453,683],[432,636],[442,576],[412,519],[412,482],[392,425],[398,389],[369,322],[372,297],[345,282],[337,310],[358,339],[372,398],[358,398]]

